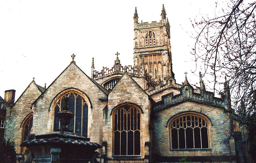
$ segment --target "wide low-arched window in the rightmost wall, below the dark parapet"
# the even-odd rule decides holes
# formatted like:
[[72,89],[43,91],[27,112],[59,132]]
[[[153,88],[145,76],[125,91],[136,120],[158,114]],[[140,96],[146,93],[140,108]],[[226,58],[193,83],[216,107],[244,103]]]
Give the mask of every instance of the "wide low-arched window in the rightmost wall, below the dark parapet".
[[198,115],[183,115],[170,122],[171,149],[209,148],[208,123]]

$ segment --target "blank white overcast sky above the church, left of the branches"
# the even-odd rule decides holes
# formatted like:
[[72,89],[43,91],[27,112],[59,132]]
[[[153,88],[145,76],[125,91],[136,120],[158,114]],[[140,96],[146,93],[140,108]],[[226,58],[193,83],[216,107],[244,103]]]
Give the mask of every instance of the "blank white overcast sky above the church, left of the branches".
[[150,23],[161,20],[162,4],[171,26],[176,81],[183,82],[188,72],[196,84],[194,40],[186,32],[194,32],[189,18],[213,15],[214,0],[0,0],[0,96],[15,89],[16,101],[33,77],[38,85],[50,85],[73,53],[90,77],[92,57],[98,71],[114,65],[116,52],[122,66],[133,65],[135,7],[139,22]]

